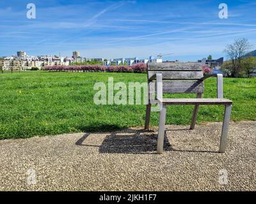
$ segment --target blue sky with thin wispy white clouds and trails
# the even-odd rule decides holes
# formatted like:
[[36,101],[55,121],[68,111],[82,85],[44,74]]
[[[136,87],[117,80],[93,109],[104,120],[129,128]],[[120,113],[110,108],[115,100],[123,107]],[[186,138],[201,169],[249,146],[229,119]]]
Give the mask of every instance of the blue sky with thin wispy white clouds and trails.
[[[36,19],[28,19],[28,3]],[[228,18],[220,19],[220,3]],[[236,38],[256,45],[256,1],[0,1],[0,56],[148,57],[196,61]],[[254,47],[256,49],[256,46]]]

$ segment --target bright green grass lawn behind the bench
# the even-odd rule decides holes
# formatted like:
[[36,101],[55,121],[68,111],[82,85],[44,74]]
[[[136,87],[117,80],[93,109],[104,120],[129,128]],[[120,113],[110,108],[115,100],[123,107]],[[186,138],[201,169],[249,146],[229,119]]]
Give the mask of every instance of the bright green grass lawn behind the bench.
[[[0,139],[143,126],[144,105],[95,105],[95,82],[146,82],[146,74],[47,73],[0,74]],[[180,98],[195,94],[179,94]],[[224,96],[232,99],[232,120],[256,119],[256,78],[225,78]],[[170,96],[172,97],[172,96]],[[204,98],[216,97],[216,78],[207,79]],[[198,122],[221,121],[223,106],[200,106]],[[168,106],[166,124],[189,124],[193,106]],[[158,113],[150,125],[157,126]]]

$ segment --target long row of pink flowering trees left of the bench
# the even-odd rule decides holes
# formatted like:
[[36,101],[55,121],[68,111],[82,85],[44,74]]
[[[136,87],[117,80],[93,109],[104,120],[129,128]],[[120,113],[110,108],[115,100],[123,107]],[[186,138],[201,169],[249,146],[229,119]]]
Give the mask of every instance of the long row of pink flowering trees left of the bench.
[[131,66],[102,66],[99,64],[88,64],[88,65],[54,65],[54,66],[46,66],[44,68],[45,71],[93,71],[93,72],[133,72],[133,73],[145,73],[147,69],[147,65],[144,63],[132,64]]

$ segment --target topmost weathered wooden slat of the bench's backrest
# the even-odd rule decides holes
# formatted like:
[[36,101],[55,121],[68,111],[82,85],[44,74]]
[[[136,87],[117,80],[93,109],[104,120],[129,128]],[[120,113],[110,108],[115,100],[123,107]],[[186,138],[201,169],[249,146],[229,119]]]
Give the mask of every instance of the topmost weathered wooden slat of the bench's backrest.
[[163,62],[148,63],[148,70],[169,70],[169,71],[202,71],[201,64],[197,62]]

